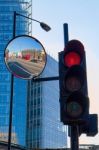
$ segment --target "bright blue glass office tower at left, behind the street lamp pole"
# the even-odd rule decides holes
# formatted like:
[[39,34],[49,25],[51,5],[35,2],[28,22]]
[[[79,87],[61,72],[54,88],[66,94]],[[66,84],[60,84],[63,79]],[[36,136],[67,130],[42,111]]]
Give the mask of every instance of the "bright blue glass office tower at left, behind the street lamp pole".
[[[13,38],[14,11],[31,17],[31,0],[0,0],[0,141],[8,141],[11,74],[4,63],[4,49]],[[31,21],[17,16],[16,35],[30,34]],[[14,78],[12,143],[25,145],[27,81]]]

